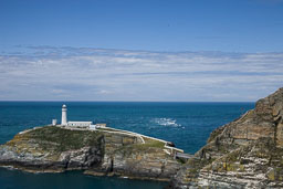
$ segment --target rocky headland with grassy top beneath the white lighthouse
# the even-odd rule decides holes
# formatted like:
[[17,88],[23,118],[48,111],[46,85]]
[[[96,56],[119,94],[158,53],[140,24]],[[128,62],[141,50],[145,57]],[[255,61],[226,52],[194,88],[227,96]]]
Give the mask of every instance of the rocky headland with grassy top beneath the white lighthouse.
[[117,175],[169,180],[180,164],[164,151],[164,143],[114,132],[39,127],[0,146],[0,166],[33,172],[82,169],[90,175]]

